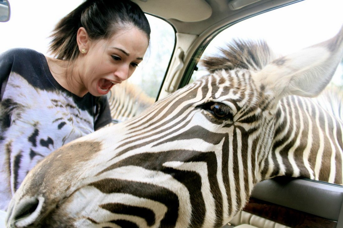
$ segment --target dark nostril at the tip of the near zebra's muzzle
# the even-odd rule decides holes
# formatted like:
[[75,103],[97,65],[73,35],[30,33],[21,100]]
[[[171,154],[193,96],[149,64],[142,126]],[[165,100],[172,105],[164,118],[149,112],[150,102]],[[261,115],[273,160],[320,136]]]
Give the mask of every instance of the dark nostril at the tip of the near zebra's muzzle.
[[12,222],[15,227],[26,227],[33,224],[42,212],[44,198],[29,198],[21,200],[12,212]]

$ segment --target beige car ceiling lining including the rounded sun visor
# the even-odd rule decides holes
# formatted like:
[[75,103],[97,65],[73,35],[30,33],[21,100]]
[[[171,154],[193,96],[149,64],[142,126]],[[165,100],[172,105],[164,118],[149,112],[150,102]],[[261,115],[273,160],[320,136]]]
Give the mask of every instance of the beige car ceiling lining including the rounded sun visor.
[[[132,1],[136,2],[144,12],[168,21],[178,33],[200,35],[209,28],[219,28],[240,18],[299,0],[252,0],[253,3],[236,10],[231,7],[231,0]],[[237,0],[234,1],[237,3]],[[246,0],[241,1],[246,2]],[[180,11],[180,7],[182,7],[182,11]],[[180,13],[174,15],[179,11]]]

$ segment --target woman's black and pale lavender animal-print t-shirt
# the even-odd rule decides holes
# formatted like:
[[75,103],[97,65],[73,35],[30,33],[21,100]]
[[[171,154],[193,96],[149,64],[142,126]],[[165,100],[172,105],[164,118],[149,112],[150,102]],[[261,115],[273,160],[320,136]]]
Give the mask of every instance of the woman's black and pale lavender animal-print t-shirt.
[[111,122],[105,96],[80,98],[60,86],[42,53],[0,54],[0,210],[37,162]]

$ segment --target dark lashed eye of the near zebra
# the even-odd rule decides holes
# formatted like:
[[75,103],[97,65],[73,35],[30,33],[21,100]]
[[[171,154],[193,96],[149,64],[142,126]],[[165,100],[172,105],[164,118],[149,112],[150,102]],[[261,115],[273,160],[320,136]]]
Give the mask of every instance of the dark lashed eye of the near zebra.
[[201,108],[205,111],[211,113],[215,118],[220,120],[230,120],[233,121],[233,114],[231,109],[223,103],[220,102],[208,102],[205,104],[200,104],[197,108]]

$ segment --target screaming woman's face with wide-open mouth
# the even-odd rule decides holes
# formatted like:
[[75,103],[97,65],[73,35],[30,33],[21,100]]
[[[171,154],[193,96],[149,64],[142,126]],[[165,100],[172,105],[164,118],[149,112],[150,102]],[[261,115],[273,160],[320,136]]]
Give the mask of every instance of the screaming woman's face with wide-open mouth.
[[84,89],[93,96],[107,94],[112,86],[132,75],[148,45],[145,33],[136,27],[119,30],[109,39],[91,42],[79,67]]

